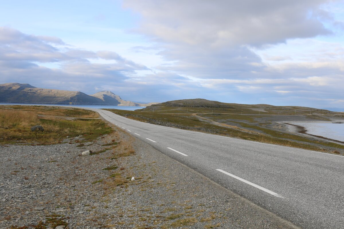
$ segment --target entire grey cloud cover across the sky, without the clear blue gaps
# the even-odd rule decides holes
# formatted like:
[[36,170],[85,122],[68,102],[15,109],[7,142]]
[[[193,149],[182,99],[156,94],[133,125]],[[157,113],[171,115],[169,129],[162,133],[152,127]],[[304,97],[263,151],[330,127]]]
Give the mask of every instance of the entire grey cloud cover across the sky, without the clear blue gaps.
[[343,49],[332,47],[334,53],[322,51],[323,59],[304,62],[276,53],[270,59],[281,63],[275,65],[252,51],[288,39],[332,34],[323,22],[339,26],[342,22],[321,9],[327,2],[125,1],[125,7],[142,15],[135,31],[153,41],[150,47],[133,50],[142,55],[147,49],[160,50],[157,55],[166,60],[144,76],[138,72],[149,70],[146,66],[114,51],[71,48],[57,37],[0,27],[1,81],[88,93],[111,90],[134,101],[205,98],[344,107]]

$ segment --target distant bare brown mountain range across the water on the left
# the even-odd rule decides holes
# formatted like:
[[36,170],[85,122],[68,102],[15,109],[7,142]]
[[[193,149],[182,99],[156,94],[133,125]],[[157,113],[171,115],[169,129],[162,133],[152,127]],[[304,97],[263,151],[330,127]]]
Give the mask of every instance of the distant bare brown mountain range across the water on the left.
[[27,83],[0,84],[0,102],[5,103],[42,103],[110,106],[145,106],[145,104],[125,101],[110,91],[87,95],[80,91],[36,88]]

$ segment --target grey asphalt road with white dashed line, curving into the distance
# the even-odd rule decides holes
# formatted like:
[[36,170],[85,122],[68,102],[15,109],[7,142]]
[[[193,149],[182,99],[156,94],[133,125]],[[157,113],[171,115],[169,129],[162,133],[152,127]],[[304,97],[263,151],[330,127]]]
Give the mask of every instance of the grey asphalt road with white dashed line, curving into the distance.
[[344,157],[138,122],[107,121],[302,228],[344,228]]

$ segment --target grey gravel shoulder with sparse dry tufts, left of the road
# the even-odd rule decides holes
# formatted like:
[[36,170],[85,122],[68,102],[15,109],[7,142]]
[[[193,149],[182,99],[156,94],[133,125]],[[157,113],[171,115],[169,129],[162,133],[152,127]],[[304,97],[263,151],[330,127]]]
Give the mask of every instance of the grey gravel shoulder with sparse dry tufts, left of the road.
[[[115,133],[81,148],[0,146],[0,228],[297,228],[124,131]],[[135,154],[114,159],[115,147],[79,156],[107,149],[102,145],[113,139],[130,143]]]

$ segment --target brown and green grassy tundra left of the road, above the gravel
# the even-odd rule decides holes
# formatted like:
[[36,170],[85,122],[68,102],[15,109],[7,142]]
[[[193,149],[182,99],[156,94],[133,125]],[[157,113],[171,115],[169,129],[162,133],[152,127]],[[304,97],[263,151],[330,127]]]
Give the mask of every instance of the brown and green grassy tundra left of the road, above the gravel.
[[[41,125],[44,131],[31,131]],[[82,135],[83,142],[109,134],[112,129],[96,112],[54,106],[0,106],[0,144],[56,144]],[[76,143],[76,142],[74,142]]]

